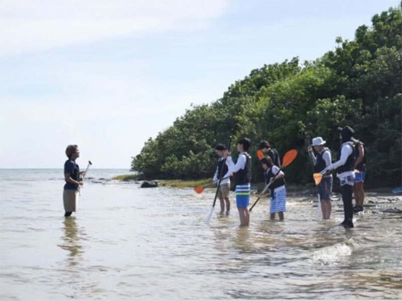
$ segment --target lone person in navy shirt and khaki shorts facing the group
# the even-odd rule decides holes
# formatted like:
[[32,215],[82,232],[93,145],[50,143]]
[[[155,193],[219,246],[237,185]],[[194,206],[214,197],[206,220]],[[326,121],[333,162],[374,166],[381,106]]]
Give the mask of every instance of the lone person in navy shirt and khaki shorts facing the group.
[[64,163],[64,184],[63,205],[65,217],[70,216],[77,209],[78,188],[83,185],[80,175],[85,172],[79,172],[79,166],[75,160],[79,158],[79,149],[77,145],[68,145],[66,148],[68,160]]

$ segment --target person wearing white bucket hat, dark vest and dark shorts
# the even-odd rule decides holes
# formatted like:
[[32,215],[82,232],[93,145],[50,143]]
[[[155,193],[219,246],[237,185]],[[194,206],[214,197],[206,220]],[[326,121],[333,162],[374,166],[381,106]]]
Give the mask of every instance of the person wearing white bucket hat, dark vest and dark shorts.
[[[313,143],[308,147],[310,157],[313,161],[314,172],[321,173],[332,163],[331,150],[325,147],[325,141],[322,137],[313,138]],[[314,150],[317,152],[317,157],[313,153]],[[331,194],[332,194],[332,174],[326,174],[323,180],[317,186],[318,194],[320,196],[319,202],[321,203],[321,212],[323,219],[329,219],[331,216]]]

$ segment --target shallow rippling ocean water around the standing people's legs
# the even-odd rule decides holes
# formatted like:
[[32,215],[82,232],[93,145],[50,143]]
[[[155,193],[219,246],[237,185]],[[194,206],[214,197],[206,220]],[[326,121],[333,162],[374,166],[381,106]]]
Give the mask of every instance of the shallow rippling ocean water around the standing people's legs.
[[322,221],[314,197],[289,197],[283,222],[264,198],[239,228],[234,195],[206,225],[213,189],[109,180],[127,173],[89,170],[66,219],[61,169],[0,170],[0,299],[402,297],[400,213],[384,212],[400,197],[370,197],[354,229],[339,198]]

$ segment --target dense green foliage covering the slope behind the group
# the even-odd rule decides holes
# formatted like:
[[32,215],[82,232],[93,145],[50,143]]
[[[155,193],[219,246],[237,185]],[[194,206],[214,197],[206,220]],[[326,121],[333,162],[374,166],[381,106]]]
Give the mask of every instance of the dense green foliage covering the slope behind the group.
[[312,181],[307,139],[323,136],[334,155],[339,149],[337,126],[350,125],[365,142],[368,178],[372,186],[400,185],[401,49],[400,8],[360,26],[354,41],[337,38],[338,47],[305,62],[298,58],[264,65],[232,84],[212,104],[192,106],[173,125],[150,138],[133,157],[132,170],[145,178],[197,179],[212,177],[214,146],[249,137],[253,146],[253,180],[261,179],[255,160],[258,142],[268,140],[281,156],[299,152],[286,169],[292,183]]

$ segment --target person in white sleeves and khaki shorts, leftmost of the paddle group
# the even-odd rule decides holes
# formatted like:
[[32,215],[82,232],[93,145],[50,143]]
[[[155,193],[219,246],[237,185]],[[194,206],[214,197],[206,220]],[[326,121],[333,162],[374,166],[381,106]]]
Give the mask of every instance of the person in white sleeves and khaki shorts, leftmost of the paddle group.
[[217,170],[214,175],[213,181],[216,182],[219,180],[219,177],[222,177],[221,185],[218,191],[218,197],[221,201],[221,212],[220,216],[223,217],[225,213],[225,203],[226,203],[226,216],[230,214],[230,200],[229,200],[229,191],[230,191],[230,173],[227,161],[223,158],[225,153],[226,146],[223,144],[218,144],[215,146],[215,153],[220,157],[218,160]]

